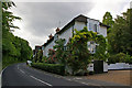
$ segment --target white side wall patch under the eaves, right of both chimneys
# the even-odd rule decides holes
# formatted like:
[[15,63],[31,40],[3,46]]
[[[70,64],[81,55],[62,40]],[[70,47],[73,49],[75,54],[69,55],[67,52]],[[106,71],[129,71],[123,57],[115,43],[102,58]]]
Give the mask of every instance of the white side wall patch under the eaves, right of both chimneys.
[[73,26],[70,26],[65,32],[63,32],[61,35],[58,35],[58,38],[65,38],[66,40],[65,44],[67,44],[69,37],[72,36],[73,36]]

